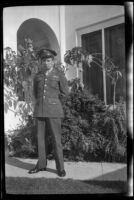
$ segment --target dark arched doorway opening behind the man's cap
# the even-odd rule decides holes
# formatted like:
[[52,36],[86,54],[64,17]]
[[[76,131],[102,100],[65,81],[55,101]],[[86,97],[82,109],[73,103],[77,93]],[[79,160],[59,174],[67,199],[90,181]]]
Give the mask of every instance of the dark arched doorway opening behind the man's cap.
[[50,48],[57,52],[57,60],[60,61],[60,47],[54,31],[44,21],[31,18],[24,21],[17,31],[17,45],[21,44],[25,38],[33,40],[35,50],[39,48]]

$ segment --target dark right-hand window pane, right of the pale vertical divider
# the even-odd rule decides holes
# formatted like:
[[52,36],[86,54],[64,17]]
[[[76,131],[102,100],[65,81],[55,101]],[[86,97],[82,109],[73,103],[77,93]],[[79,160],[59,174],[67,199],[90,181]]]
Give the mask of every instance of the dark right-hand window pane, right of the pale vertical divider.
[[[126,97],[126,66],[125,66],[125,33],[124,24],[112,26],[105,30],[105,54],[113,59],[114,63],[119,67],[123,77],[119,79],[116,87],[116,100],[120,96]],[[109,78],[106,79],[107,102],[111,103],[112,85]]]

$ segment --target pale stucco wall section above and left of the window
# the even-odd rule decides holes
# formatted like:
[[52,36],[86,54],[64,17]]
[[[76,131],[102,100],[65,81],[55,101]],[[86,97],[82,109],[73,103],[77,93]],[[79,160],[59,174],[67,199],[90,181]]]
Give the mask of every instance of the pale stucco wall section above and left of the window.
[[[124,6],[71,5],[65,6],[66,50],[77,46],[76,29],[124,15]],[[76,77],[76,69],[67,72],[69,79]]]

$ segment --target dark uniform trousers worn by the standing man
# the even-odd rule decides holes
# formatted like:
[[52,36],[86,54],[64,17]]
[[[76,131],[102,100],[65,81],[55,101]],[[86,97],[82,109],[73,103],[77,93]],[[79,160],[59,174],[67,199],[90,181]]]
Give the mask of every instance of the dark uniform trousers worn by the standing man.
[[[47,127],[47,128],[46,128]],[[55,156],[56,169],[64,170],[63,149],[61,144],[61,118],[37,118],[37,140],[38,140],[38,169],[47,165],[46,157],[46,131],[49,128],[52,136],[53,152]]]

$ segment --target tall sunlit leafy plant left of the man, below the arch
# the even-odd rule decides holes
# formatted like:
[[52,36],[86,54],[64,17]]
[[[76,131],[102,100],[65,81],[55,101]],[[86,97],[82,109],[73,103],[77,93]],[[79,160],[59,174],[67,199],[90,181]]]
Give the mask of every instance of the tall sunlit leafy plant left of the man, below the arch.
[[4,111],[15,113],[25,122],[27,115],[33,113],[32,85],[38,71],[38,60],[29,38],[18,45],[17,55],[10,47],[4,49]]

